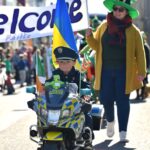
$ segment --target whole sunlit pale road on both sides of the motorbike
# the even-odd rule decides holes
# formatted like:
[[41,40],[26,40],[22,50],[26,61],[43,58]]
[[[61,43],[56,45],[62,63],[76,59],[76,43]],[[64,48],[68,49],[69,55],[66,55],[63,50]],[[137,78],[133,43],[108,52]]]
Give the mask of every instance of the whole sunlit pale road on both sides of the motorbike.
[[[29,126],[36,122],[36,115],[29,110],[26,101],[33,96],[25,89],[17,89],[16,95],[0,95],[0,150],[33,150],[37,145],[29,139]],[[133,93],[134,97],[134,93]],[[117,118],[116,118],[117,119]],[[105,126],[95,132],[93,144],[96,150],[150,150],[150,99],[131,100],[127,144],[118,142],[116,122],[115,136],[106,136]]]

